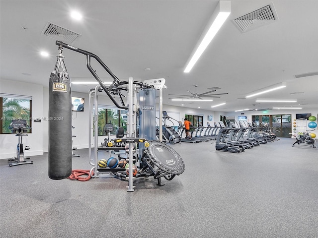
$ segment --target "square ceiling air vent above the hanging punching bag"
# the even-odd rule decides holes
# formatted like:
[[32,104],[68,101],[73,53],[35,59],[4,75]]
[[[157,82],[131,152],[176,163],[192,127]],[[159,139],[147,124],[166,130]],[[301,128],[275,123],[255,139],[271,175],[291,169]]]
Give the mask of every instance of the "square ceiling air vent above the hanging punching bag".
[[80,37],[76,32],[65,29],[61,26],[48,22],[42,31],[42,35],[52,37],[56,40],[72,43]]

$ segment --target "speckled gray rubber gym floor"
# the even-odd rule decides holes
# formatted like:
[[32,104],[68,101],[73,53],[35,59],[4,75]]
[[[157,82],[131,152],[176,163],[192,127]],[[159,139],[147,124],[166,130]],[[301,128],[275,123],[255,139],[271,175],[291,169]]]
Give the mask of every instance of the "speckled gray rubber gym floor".
[[[295,140],[239,154],[211,142],[171,145],[185,172],[158,186],[103,174],[88,181],[48,178],[48,158],[0,161],[1,238],[317,238],[318,149]],[[73,169],[89,170],[88,150]]]

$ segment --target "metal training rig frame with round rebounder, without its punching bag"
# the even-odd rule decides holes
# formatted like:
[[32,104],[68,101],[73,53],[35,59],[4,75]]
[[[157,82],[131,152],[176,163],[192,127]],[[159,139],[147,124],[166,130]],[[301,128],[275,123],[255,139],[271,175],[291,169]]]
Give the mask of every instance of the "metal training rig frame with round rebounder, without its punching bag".
[[[123,150],[123,147],[99,147],[98,146],[98,113],[97,110],[94,111],[92,114],[92,102],[91,98],[94,95],[94,105],[97,107],[98,105],[98,93],[99,92],[105,92],[107,96],[111,99],[111,101],[114,103],[114,105],[119,109],[128,110],[128,133],[126,138],[120,138],[115,139],[116,142],[126,142],[129,143],[129,160],[128,163],[130,165],[133,164],[133,143],[139,142],[143,146],[145,146],[145,149],[142,150],[142,158],[141,161],[145,162],[143,165],[144,167],[141,168],[144,173],[140,174],[140,177],[146,177],[146,176],[154,176],[155,179],[158,179],[158,184],[161,184],[161,177],[164,177],[167,180],[171,180],[175,177],[175,175],[180,175],[184,171],[184,162],[180,155],[175,152],[172,148],[168,147],[166,144],[162,143],[162,88],[165,87],[165,79],[150,79],[150,80],[144,80],[144,82],[138,82],[134,81],[132,77],[128,78],[128,81],[121,82],[111,71],[110,69],[100,60],[96,55],[81,50],[77,47],[68,45],[63,43],[62,41],[56,41],[56,45],[59,46],[59,49],[62,49],[63,47],[66,49],[70,49],[73,51],[76,51],[78,53],[81,53],[86,56],[86,66],[88,70],[91,72],[91,74],[94,76],[96,81],[99,83],[95,87],[95,89],[91,90],[89,93],[89,138],[88,138],[88,160],[90,165],[94,166],[90,170],[90,175],[92,178],[97,178],[100,173],[109,173],[112,172],[113,174],[124,177],[124,173],[121,173],[124,171],[123,168],[98,168],[98,150]],[[91,58],[94,58],[97,60],[97,62],[108,72],[108,74],[114,79],[112,84],[108,87],[104,85],[104,83],[101,81],[101,79],[96,74],[96,71],[92,69],[90,62]],[[166,87],[165,87],[166,88]],[[141,113],[137,106],[137,93],[138,90],[142,89],[158,89],[159,90],[159,141],[153,140],[152,138],[137,138],[137,113]],[[127,105],[125,106],[124,100],[122,98],[121,91],[127,91],[128,99],[127,99]],[[118,98],[120,100],[120,104],[115,100],[113,95],[118,95]],[[156,105],[154,105],[156,106]],[[147,108],[147,106],[144,108]],[[154,107],[155,108],[155,107]],[[154,110],[154,108],[152,110]],[[147,110],[147,109],[146,109]],[[94,123],[94,159],[91,158],[91,120],[93,120]],[[154,117],[155,120],[155,117]],[[150,140],[150,142],[148,142]],[[141,147],[143,147],[141,146]],[[148,148],[149,147],[149,148]],[[168,158],[168,159],[167,159]],[[117,172],[117,174],[116,174]],[[129,167],[129,175],[133,174],[133,168],[132,166]],[[137,176],[136,176],[137,177]],[[133,186],[133,176],[128,177],[128,187],[127,191],[131,192],[134,191]]]

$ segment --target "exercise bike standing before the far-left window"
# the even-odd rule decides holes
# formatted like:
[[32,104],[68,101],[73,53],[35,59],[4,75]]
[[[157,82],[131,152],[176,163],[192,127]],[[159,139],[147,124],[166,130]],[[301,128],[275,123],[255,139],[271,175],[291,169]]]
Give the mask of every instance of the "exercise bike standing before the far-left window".
[[9,166],[15,166],[15,165],[23,165],[23,164],[33,164],[33,161],[26,161],[30,158],[24,157],[24,151],[29,150],[29,146],[25,146],[23,148],[22,143],[22,136],[28,136],[28,134],[25,134],[31,127],[28,125],[26,120],[12,120],[9,128],[11,129],[12,133],[16,133],[15,136],[19,137],[19,142],[16,146],[16,157],[13,157],[8,160]]

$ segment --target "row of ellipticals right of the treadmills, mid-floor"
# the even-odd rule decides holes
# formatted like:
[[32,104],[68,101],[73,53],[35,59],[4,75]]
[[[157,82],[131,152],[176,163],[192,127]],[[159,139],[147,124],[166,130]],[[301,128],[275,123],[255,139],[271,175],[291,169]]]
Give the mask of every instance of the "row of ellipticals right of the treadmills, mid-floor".
[[236,121],[238,126],[230,120],[225,120],[225,123],[219,121],[220,126],[217,126],[219,129],[216,150],[239,153],[260,144],[279,140],[268,126],[257,126],[254,121],[247,123],[244,121],[244,125],[242,121]]

